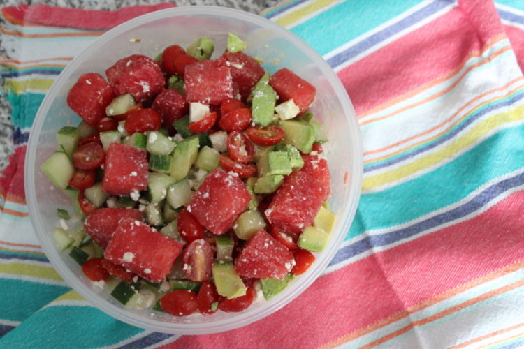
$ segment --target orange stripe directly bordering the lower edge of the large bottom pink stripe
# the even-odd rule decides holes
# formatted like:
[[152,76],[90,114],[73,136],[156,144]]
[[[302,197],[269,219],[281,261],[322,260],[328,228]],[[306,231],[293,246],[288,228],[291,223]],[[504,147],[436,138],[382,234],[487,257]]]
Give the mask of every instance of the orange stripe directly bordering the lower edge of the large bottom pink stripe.
[[335,348],[337,346],[341,346],[343,343],[346,343],[348,341],[352,341],[360,336],[364,336],[365,334],[369,334],[371,332],[376,331],[377,329],[380,329],[381,327],[385,327],[387,325],[391,325],[393,322],[396,322],[398,320],[401,320],[403,318],[407,318],[410,313],[415,313],[416,311],[421,311],[425,308],[428,308],[428,306],[432,306],[434,304],[437,304],[439,302],[445,301],[446,299],[449,299],[455,295],[458,295],[459,293],[465,292],[467,290],[470,290],[471,288],[474,288],[478,285],[481,285],[483,283],[487,283],[489,281],[495,280],[497,278],[500,278],[501,276],[511,274],[513,272],[516,272],[517,270],[524,268],[524,260],[521,262],[516,262],[511,265],[507,265],[504,268],[495,270],[495,272],[490,272],[484,276],[481,276],[478,279],[474,279],[468,283],[464,283],[463,285],[457,286],[456,288],[452,288],[451,290],[448,290],[446,292],[442,292],[441,294],[425,299],[423,302],[420,302],[419,304],[415,304],[414,306],[410,306],[405,311],[400,311],[398,313],[395,313],[388,318],[384,318],[382,320],[379,320],[377,322],[374,322],[370,325],[367,325],[366,327],[363,327],[362,329],[358,329],[354,332],[351,332],[347,334],[346,336],[342,336],[338,339],[335,339],[335,341],[331,341],[329,343],[326,343],[324,346],[321,346],[321,348]]

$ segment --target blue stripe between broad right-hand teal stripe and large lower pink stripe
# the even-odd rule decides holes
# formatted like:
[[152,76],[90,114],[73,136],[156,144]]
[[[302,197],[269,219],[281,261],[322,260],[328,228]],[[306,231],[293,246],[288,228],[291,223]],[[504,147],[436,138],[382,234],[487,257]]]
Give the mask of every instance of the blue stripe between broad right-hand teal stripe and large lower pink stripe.
[[430,230],[436,228],[439,225],[444,223],[454,221],[458,218],[472,214],[474,211],[478,211],[484,205],[486,205],[491,200],[497,198],[497,196],[502,195],[504,192],[509,191],[511,188],[516,186],[521,186],[524,184],[524,173],[518,174],[516,177],[511,177],[504,179],[488,188],[484,189],[478,195],[474,196],[472,200],[466,202],[464,205],[451,209],[451,211],[443,212],[442,214],[437,214],[432,216],[425,221],[419,223],[414,223],[409,225],[407,228],[402,228],[398,230],[393,230],[382,235],[373,235],[364,237],[358,242],[354,242],[348,246],[344,246],[337,251],[335,258],[330,262],[329,265],[335,265],[344,260],[347,260],[351,257],[359,255],[372,247],[386,246],[388,244],[393,244],[402,239],[407,239],[413,235],[419,234],[425,230]]

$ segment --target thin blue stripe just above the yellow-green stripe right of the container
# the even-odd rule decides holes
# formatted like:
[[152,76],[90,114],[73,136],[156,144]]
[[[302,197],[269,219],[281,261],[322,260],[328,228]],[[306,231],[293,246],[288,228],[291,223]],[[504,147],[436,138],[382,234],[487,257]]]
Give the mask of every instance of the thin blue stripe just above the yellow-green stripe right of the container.
[[520,91],[520,93],[514,95],[510,99],[506,99],[505,101],[500,101],[499,103],[493,103],[493,104],[487,105],[483,109],[480,109],[480,110],[477,110],[476,112],[474,112],[471,117],[468,117],[467,119],[465,119],[465,121],[463,121],[462,124],[459,124],[456,128],[453,128],[453,130],[451,130],[451,132],[447,133],[443,137],[437,138],[437,140],[433,141],[432,143],[430,143],[430,144],[428,144],[428,145],[426,145],[424,147],[416,148],[416,149],[414,149],[414,151],[412,151],[412,152],[410,152],[408,154],[404,154],[402,156],[398,156],[398,157],[393,158],[393,159],[391,159],[389,161],[384,161],[384,162],[378,163],[376,165],[367,165],[367,166],[364,167],[364,173],[370,172],[372,170],[377,170],[379,168],[385,168],[385,167],[394,165],[395,163],[400,163],[401,161],[405,161],[407,158],[412,158],[413,156],[421,154],[424,151],[428,151],[430,149],[433,149],[433,148],[437,147],[437,145],[446,142],[446,140],[449,140],[449,139],[453,138],[457,133],[462,131],[464,128],[466,128],[468,125],[472,124],[474,121],[476,121],[477,119],[479,119],[483,115],[488,114],[488,112],[493,112],[493,110],[497,110],[497,109],[499,109],[501,107],[507,107],[509,105],[512,105],[512,104],[520,101],[522,98],[524,98],[524,92]]

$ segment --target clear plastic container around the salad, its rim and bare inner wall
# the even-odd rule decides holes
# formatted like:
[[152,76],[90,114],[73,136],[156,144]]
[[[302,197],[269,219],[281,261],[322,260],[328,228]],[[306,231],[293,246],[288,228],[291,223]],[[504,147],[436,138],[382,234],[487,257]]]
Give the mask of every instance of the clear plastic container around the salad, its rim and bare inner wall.
[[[68,207],[68,198],[40,170],[54,151],[55,133],[81,119],[66,105],[68,89],[82,73],[104,70],[130,54],[155,57],[164,47],[177,43],[187,47],[199,36],[214,40],[219,56],[225,50],[228,32],[247,43],[247,54],[265,61],[274,73],[290,68],[317,90],[312,112],[324,124],[329,142],[324,149],[330,166],[333,195],[330,204],[337,214],[333,235],[323,253],[303,275],[281,294],[266,302],[257,299],[241,313],[193,314],[173,317],[150,310],[137,311],[119,304],[82,274],[67,253],[59,251],[52,232],[57,227],[57,207]],[[140,39],[140,40],[136,40]],[[173,334],[205,334],[234,329],[274,313],[298,297],[326,268],[353,221],[362,181],[362,146],[356,114],[346,91],[326,61],[298,36],[263,17],[212,6],[191,6],[160,10],[137,17],[98,38],[71,61],[45,96],[38,110],[27,149],[25,186],[31,222],[38,239],[57,272],[87,301],[114,318],[131,325]]]

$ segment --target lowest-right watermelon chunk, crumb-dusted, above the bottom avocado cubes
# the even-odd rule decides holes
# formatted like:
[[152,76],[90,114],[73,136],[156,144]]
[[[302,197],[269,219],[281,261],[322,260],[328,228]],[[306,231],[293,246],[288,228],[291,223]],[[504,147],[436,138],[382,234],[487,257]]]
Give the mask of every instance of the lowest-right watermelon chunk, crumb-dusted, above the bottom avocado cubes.
[[282,279],[295,265],[293,253],[265,230],[257,231],[235,260],[240,276]]

